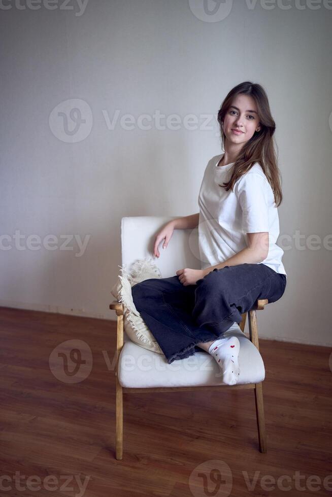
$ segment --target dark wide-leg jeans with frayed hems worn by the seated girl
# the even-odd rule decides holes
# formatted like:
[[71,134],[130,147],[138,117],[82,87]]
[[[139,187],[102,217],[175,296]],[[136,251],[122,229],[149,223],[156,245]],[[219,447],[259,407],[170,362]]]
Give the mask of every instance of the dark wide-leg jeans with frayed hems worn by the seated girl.
[[171,364],[201,350],[197,343],[222,337],[257,299],[276,302],[285,288],[286,276],[260,263],[213,269],[195,285],[183,286],[178,275],[150,278],[136,283],[131,292]]

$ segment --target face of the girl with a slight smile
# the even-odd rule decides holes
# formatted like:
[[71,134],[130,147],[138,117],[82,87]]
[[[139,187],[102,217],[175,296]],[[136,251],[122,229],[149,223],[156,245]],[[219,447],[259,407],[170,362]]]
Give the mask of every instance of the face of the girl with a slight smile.
[[225,114],[223,131],[226,141],[234,144],[244,144],[250,140],[255,131],[259,131],[257,107],[253,97],[237,95]]

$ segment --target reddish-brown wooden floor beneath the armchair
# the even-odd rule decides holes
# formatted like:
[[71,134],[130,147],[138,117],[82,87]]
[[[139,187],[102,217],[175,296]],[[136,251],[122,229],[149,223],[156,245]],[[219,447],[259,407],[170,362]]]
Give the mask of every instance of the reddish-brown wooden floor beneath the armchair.
[[[0,330],[1,495],[331,495],[329,348],[260,340],[266,454],[253,390],[147,393],[124,397],[117,461],[115,322],[0,308]],[[79,383],[57,379],[49,365],[54,347],[72,339],[92,351]]]

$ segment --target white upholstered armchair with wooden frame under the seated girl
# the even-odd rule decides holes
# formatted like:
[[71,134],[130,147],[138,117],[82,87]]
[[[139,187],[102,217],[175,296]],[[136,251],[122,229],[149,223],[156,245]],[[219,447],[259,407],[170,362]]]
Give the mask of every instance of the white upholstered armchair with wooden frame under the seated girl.
[[[125,217],[121,220],[122,265],[153,256],[155,234],[174,217]],[[160,251],[156,264],[163,278],[175,276],[183,267],[201,269],[198,252],[198,230],[175,230],[165,251]],[[262,397],[265,378],[263,360],[258,348],[256,310],[263,309],[267,299],[258,300],[248,311],[249,338],[244,333],[246,313],[240,325],[235,323],[224,336],[236,335],[240,340],[240,376],[236,385],[222,382],[215,360],[203,349],[194,356],[168,364],[162,354],[147,350],[132,342],[123,332],[123,305],[116,300],[110,304],[117,314],[116,345],[116,459],[122,459],[123,394],[145,392],[184,392],[201,389],[249,389],[255,394],[258,442],[260,452],[267,451]]]

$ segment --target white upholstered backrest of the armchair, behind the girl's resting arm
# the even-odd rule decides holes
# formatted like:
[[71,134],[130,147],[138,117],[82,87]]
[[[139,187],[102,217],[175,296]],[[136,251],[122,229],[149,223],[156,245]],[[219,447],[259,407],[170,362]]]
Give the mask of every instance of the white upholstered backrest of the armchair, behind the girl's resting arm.
[[175,276],[178,269],[190,267],[201,269],[198,250],[198,228],[174,230],[168,247],[162,250],[160,257],[153,259],[155,235],[160,229],[176,217],[134,216],[121,219],[121,260],[122,266],[129,265],[136,259],[151,257],[160,269],[163,278]]

